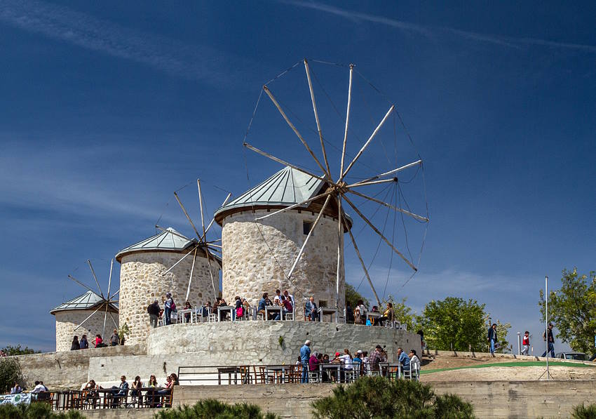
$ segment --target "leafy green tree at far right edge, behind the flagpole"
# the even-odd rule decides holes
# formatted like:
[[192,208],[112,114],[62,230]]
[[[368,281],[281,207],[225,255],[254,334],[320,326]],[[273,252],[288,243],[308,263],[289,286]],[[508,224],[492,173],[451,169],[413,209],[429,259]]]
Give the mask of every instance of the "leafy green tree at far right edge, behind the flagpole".
[[[544,292],[540,312],[544,320]],[[548,295],[548,317],[557,326],[557,338],[578,352],[594,352],[596,337],[596,272],[580,275],[577,268],[563,270],[561,288]]]

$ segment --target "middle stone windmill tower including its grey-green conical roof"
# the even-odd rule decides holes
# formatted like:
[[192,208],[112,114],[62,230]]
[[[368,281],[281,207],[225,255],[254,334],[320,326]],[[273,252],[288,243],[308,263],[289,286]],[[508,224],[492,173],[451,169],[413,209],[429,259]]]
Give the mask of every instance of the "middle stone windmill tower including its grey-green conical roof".
[[197,307],[219,294],[221,261],[214,255],[208,259],[196,239],[188,239],[171,227],[123,248],[116,260],[121,263],[120,324],[128,324],[127,342],[131,344],[147,338],[147,305],[154,300],[161,305],[165,293],[172,293],[179,307],[187,295],[191,306]]

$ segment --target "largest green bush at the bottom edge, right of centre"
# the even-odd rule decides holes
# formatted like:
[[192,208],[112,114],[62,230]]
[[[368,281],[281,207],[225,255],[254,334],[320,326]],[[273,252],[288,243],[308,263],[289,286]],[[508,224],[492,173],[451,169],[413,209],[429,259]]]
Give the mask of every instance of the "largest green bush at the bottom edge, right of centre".
[[437,395],[417,381],[363,377],[334,388],[333,395],[313,402],[318,419],[473,418],[472,405],[454,394]]

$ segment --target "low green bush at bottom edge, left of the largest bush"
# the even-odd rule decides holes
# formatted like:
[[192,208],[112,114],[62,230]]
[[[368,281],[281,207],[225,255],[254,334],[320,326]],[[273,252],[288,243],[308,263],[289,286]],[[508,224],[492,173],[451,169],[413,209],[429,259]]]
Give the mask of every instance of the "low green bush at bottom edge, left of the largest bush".
[[181,406],[160,411],[156,419],[277,419],[273,413],[263,414],[255,404],[225,404],[216,399],[199,400],[194,406]]

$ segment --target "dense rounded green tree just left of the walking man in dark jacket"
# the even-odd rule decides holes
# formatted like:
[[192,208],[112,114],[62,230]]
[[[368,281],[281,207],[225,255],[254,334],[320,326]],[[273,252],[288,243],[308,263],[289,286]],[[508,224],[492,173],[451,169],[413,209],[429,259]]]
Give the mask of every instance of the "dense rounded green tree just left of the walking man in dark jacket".
[[447,297],[431,301],[418,317],[428,347],[435,350],[486,350],[485,305]]

